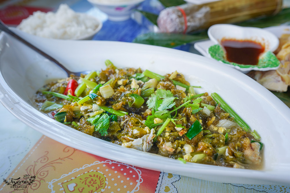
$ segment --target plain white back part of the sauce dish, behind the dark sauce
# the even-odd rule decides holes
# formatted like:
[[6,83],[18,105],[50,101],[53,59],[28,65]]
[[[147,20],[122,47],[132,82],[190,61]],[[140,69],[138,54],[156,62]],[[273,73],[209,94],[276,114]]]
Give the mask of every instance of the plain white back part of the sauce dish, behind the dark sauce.
[[220,41],[222,38],[233,38],[236,40],[247,39],[265,43],[264,52],[274,52],[279,46],[279,39],[274,34],[258,27],[241,27],[231,24],[216,24],[212,25],[207,33],[211,41],[219,45],[221,45]]

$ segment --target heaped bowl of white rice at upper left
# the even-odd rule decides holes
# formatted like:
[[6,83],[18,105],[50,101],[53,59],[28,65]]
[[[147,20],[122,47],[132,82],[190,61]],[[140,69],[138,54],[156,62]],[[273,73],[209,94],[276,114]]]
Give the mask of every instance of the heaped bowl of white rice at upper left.
[[67,4],[57,12],[34,12],[17,28],[23,32],[54,39],[91,40],[102,28],[102,22],[84,13],[76,13]]

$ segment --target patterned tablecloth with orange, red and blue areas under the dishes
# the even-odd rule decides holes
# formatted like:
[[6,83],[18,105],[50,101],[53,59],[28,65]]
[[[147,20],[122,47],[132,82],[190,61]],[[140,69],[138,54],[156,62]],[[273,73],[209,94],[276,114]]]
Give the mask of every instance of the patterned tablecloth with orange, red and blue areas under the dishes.
[[[42,1],[42,4],[33,0],[15,2],[53,10],[60,1]],[[85,0],[66,3],[76,11],[88,12],[104,21],[104,27],[94,40],[131,42],[137,35],[148,32],[148,26],[140,25],[144,22],[142,18],[137,18],[138,22],[130,19],[116,23],[106,21],[106,15]],[[4,1],[4,4],[6,6],[8,2]],[[44,4],[46,6],[41,6]],[[151,9],[151,12],[160,9],[157,0],[147,0],[142,6],[145,10]],[[3,10],[0,12],[3,14]],[[178,49],[195,52],[190,45]],[[2,105],[0,123],[0,177],[3,179],[0,192],[290,192],[290,184],[215,183],[108,160],[38,133],[13,117]]]

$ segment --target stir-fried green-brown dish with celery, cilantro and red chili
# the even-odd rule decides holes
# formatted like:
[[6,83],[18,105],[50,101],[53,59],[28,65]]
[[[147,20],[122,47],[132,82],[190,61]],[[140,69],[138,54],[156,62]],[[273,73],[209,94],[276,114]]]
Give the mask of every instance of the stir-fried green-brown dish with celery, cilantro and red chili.
[[177,71],[161,76],[105,63],[105,70],[46,84],[35,105],[58,122],[125,148],[184,163],[262,165],[260,136],[217,93],[195,93]]

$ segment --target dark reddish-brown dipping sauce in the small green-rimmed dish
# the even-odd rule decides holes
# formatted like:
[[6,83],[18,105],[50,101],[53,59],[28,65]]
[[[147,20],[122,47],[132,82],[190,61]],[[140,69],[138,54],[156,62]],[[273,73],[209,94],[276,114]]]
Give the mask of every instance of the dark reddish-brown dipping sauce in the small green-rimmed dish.
[[260,54],[265,50],[264,45],[251,40],[222,39],[221,44],[226,51],[226,59],[238,64],[257,65]]

